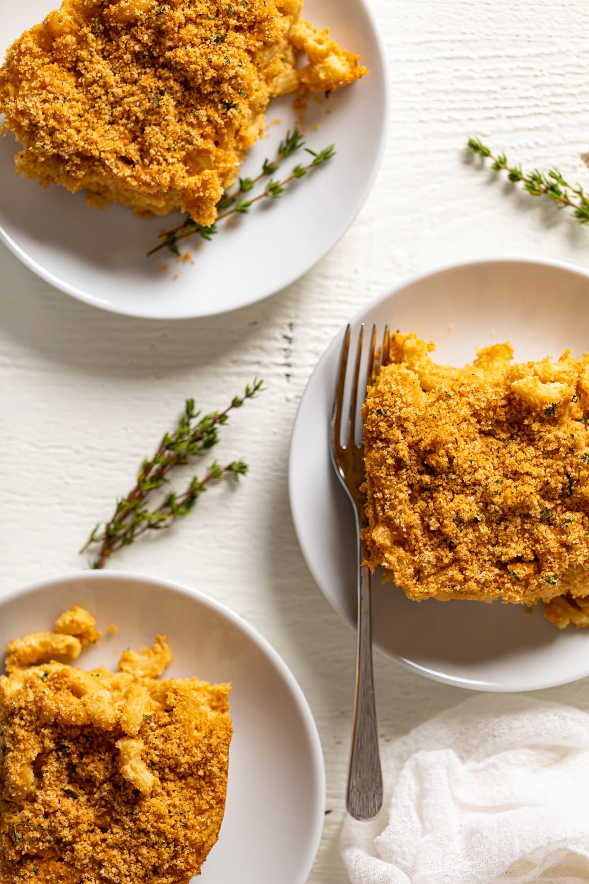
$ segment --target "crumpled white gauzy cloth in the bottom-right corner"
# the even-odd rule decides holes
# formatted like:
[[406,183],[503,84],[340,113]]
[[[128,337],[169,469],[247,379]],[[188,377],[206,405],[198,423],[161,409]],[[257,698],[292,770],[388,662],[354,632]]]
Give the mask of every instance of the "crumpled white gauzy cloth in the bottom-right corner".
[[585,884],[589,715],[480,695],[382,753],[384,804],[347,819],[353,884]]

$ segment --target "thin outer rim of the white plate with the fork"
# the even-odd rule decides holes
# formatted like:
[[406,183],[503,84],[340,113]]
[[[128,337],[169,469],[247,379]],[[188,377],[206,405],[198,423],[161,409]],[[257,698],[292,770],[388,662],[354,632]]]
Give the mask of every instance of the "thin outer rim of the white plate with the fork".
[[[352,325],[358,323],[363,320],[366,321],[366,315],[369,315],[378,305],[381,304],[382,301],[388,301],[390,298],[394,298],[399,292],[401,292],[404,288],[408,286],[412,286],[415,283],[424,282],[427,278],[432,278],[438,275],[442,275],[448,271],[455,271],[464,267],[476,267],[478,265],[484,264],[497,264],[497,263],[515,263],[515,264],[535,264],[541,265],[544,267],[555,267],[558,270],[570,271],[574,275],[585,278],[587,282],[589,282],[589,270],[586,270],[584,267],[579,266],[578,264],[574,264],[568,261],[560,261],[557,258],[545,258],[538,257],[536,255],[489,255],[487,257],[477,257],[477,258],[465,258],[462,261],[451,261],[447,263],[437,264],[433,268],[430,268],[425,271],[420,271],[419,273],[414,273],[408,276],[407,278],[402,279],[395,286],[392,286],[385,293],[378,295],[368,304],[360,307],[351,319],[349,319],[349,323]],[[306,562],[306,567],[309,569],[311,576],[313,577],[313,581],[316,584],[317,588],[321,591],[321,594],[326,599],[328,604],[336,611],[336,613],[342,618],[342,620],[347,623],[351,629],[356,629],[356,624],[352,622],[345,614],[344,607],[340,606],[336,603],[336,600],[330,598],[326,591],[324,591],[321,583],[316,575],[315,568],[313,567],[313,562],[309,559],[307,554],[306,546],[302,540],[302,519],[299,519],[299,513],[297,507],[294,503],[295,498],[295,489],[297,482],[297,476],[295,474],[294,461],[296,459],[296,455],[294,454],[295,446],[296,446],[296,434],[299,420],[301,419],[301,414],[304,408],[305,399],[309,388],[313,383],[313,378],[316,373],[320,370],[321,364],[328,358],[328,354],[331,353],[333,349],[339,346],[342,336],[344,335],[345,325],[336,332],[336,335],[331,339],[328,343],[328,346],[323,350],[321,356],[316,362],[311,375],[309,376],[305,389],[301,395],[300,401],[298,403],[297,413],[295,415],[294,421],[292,423],[291,430],[291,442],[289,445],[289,462],[288,462],[288,490],[289,490],[289,505],[291,508],[291,519],[294,526],[295,534],[298,540],[299,549],[303,555],[303,558]],[[327,440],[326,440],[327,442]],[[556,688],[563,684],[570,684],[572,682],[578,682],[581,679],[584,679],[589,676],[589,663],[583,672],[574,675],[572,678],[555,678],[548,679],[541,683],[534,684],[517,684],[512,687],[506,687],[501,682],[491,682],[491,681],[483,681],[478,679],[469,679],[464,676],[457,676],[446,674],[443,672],[439,672],[436,669],[421,666],[419,663],[414,662],[413,660],[407,659],[406,657],[402,657],[399,654],[389,652],[387,649],[382,648],[380,644],[374,643],[374,646],[377,647],[381,653],[383,653],[386,657],[390,659],[396,660],[402,667],[405,669],[409,669],[410,671],[417,673],[419,675],[423,675],[426,678],[430,679],[434,682],[442,682],[443,684],[448,684],[451,687],[462,688],[464,690],[484,690],[488,693],[517,693],[521,691],[531,691],[531,690],[545,690],[547,688]]]

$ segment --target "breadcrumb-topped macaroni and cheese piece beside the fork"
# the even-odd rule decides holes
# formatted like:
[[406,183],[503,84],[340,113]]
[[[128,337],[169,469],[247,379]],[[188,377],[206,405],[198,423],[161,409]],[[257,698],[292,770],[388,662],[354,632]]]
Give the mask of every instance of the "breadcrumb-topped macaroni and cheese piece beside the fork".
[[533,605],[589,626],[589,354],[436,365],[396,333],[363,408],[367,563],[409,598]]

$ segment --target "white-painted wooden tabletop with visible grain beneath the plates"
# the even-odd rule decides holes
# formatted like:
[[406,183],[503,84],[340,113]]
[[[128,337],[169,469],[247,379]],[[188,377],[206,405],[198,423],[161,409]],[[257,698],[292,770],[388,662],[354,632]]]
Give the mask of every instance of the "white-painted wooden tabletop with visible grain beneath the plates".
[[[589,230],[463,151],[479,133],[525,167],[558,164],[589,184],[579,160],[589,149],[587,5],[373,2],[392,82],[387,153],[356,223],[295,285],[230,316],[142,322],[53,291],[0,247],[0,592],[85,565],[80,543],[187,396],[221,407],[255,374],[266,381],[223,434],[223,451],[251,464],[238,491],[210,492],[168,535],[117,558],[223,600],[292,667],[327,764],[330,813],[313,884],[345,880],[338,832],[354,671],[354,635],[306,569],[287,498],[291,425],[313,365],[360,305],[416,271],[496,254],[589,267]],[[378,653],[375,669],[383,742],[464,698]],[[542,696],[589,709],[585,682]]]

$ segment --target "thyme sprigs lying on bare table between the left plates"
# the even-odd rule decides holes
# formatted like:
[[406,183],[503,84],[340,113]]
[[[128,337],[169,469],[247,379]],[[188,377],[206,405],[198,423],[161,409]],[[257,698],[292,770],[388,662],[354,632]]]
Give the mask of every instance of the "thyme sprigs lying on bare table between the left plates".
[[103,568],[109,556],[131,545],[146,531],[168,528],[175,519],[190,513],[209,484],[229,477],[238,481],[240,476],[245,476],[248,468],[244,461],[231,461],[225,466],[214,461],[207,475],[203,478],[193,476],[184,492],[169,492],[159,506],[151,504],[153,493],[169,483],[170,471],[202,457],[215,446],[219,429],[228,422],[230,412],[254,399],[263,389],[262,384],[262,380],[254,378],[253,383],[245,387],[245,392],[234,396],[224,411],[209,415],[195,411],[193,399],[186,400],[176,430],[164,434],[151,460],[146,458],[141,464],[131,492],[117,500],[109,522],[99,522],[80,550],[85,552],[89,546],[98,546],[97,558],[91,562],[93,568]]

